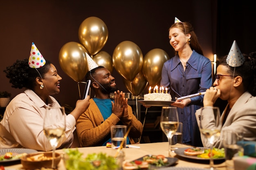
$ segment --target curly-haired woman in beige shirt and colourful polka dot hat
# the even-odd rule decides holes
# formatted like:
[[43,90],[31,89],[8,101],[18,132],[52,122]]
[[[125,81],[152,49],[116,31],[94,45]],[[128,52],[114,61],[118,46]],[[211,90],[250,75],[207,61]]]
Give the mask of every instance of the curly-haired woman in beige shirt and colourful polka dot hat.
[[[0,122],[0,148],[52,150],[43,131],[43,118],[47,107],[60,106],[51,95],[60,92],[62,78],[55,66],[43,59],[38,49],[36,53],[32,49],[36,49],[34,43],[29,60],[17,60],[4,70],[12,87],[25,88],[25,91],[14,97],[4,112]],[[40,64],[36,62],[37,59]],[[76,102],[76,108],[66,117],[65,135],[56,148],[69,148],[72,145],[76,121],[89,104],[89,96]]]

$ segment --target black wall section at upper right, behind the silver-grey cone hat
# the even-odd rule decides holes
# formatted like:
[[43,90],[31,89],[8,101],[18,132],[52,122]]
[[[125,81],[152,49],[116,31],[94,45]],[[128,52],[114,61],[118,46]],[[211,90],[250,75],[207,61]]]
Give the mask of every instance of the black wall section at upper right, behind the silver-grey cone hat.
[[236,40],[242,53],[256,51],[256,1],[218,0],[216,53],[228,55]]

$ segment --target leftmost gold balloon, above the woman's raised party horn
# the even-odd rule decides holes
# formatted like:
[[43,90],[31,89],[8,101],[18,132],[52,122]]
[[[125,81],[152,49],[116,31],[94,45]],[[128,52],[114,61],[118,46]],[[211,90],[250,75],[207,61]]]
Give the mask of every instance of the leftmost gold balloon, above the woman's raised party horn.
[[82,44],[67,42],[59,53],[61,69],[76,82],[81,82],[88,71],[85,52]]

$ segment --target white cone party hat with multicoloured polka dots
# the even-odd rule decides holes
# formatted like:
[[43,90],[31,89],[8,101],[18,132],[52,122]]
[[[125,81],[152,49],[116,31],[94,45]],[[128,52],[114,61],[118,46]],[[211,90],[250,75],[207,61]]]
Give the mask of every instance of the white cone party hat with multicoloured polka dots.
[[45,59],[40,51],[36,48],[34,42],[32,42],[31,51],[29,55],[29,67],[40,68],[45,65]]

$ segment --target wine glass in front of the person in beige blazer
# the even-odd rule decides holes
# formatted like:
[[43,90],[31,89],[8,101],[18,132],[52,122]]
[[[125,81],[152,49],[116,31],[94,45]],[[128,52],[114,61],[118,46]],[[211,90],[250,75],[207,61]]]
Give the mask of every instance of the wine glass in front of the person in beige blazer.
[[220,110],[218,107],[204,107],[200,112],[199,128],[201,134],[210,144],[210,170],[216,170],[213,167],[212,148],[216,137],[220,137],[222,124],[220,122]]

